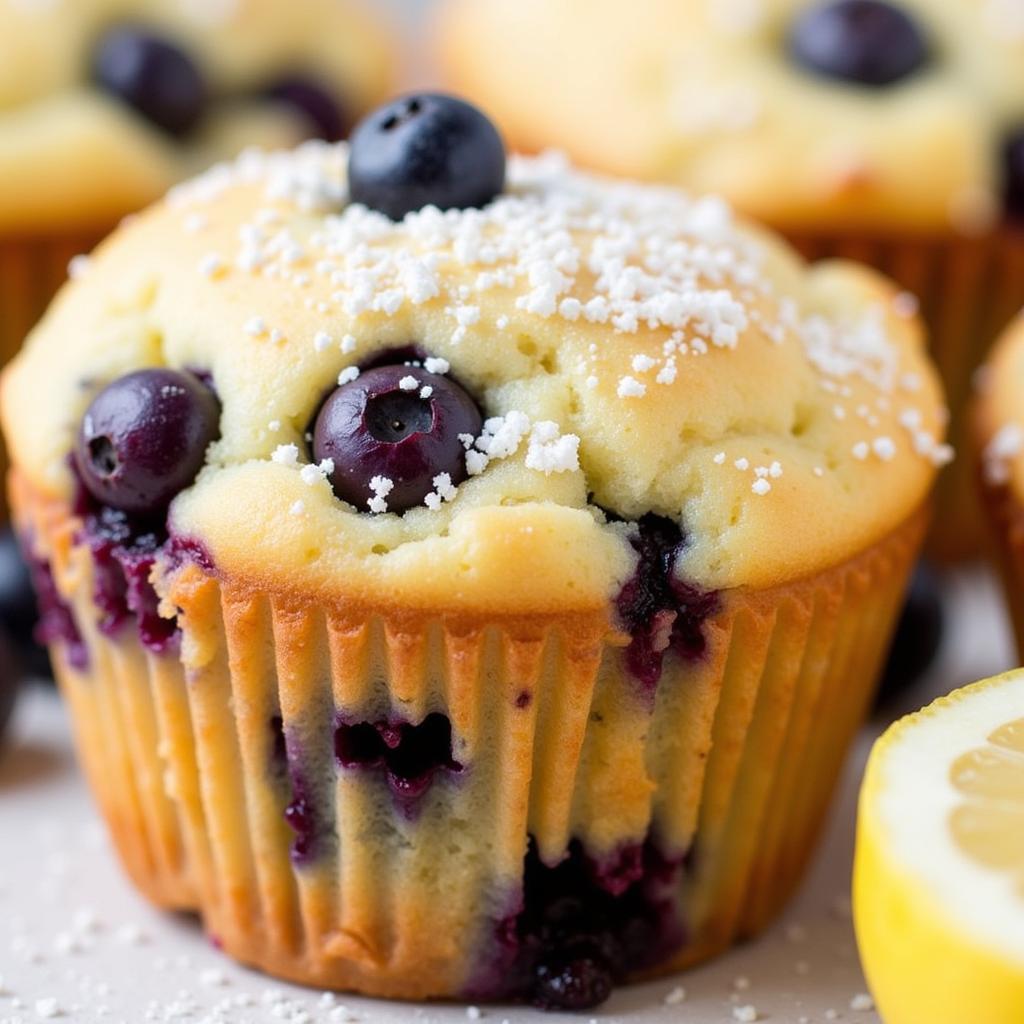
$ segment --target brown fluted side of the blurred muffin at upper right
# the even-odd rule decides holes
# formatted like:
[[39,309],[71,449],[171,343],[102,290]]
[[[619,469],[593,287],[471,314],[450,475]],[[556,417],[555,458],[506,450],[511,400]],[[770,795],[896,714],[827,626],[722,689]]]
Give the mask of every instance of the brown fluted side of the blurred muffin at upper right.
[[867,263],[921,303],[951,415],[948,439],[957,454],[939,477],[929,551],[944,561],[978,556],[983,530],[967,455],[967,408],[975,370],[1024,306],[1024,230],[1005,227],[973,239],[798,234],[791,241],[812,260]]

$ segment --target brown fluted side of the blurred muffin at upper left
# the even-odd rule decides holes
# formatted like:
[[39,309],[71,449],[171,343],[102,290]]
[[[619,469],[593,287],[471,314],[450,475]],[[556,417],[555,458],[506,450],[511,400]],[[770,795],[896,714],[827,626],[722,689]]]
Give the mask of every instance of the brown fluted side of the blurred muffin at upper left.
[[[97,236],[0,239],[0,367],[22,347],[26,336],[68,280],[68,264],[89,252]],[[6,478],[7,454],[0,441],[0,473]],[[7,518],[6,495],[0,494],[0,522]]]

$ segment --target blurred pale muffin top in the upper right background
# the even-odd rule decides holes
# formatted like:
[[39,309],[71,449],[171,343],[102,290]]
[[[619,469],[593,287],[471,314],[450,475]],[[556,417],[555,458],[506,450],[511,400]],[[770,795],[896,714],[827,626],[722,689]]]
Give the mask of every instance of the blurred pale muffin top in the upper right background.
[[1019,0],[447,0],[438,39],[518,146],[777,227],[1024,217]]

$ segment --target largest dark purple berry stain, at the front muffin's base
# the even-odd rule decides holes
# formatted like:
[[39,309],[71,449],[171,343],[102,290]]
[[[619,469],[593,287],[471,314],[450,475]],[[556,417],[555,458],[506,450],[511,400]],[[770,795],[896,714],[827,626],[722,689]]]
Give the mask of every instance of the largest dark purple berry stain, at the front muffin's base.
[[651,840],[602,861],[573,841],[557,864],[545,863],[531,842],[522,889],[495,923],[488,958],[466,994],[542,1010],[598,1006],[615,984],[685,944],[681,878],[682,859]]

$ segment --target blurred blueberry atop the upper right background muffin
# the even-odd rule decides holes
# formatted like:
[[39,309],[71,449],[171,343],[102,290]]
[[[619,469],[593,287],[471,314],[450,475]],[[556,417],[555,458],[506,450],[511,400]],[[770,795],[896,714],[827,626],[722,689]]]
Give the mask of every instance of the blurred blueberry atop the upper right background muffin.
[[817,75],[892,85],[923,68],[928,41],[906,11],[883,0],[823,0],[793,24],[790,52]]

